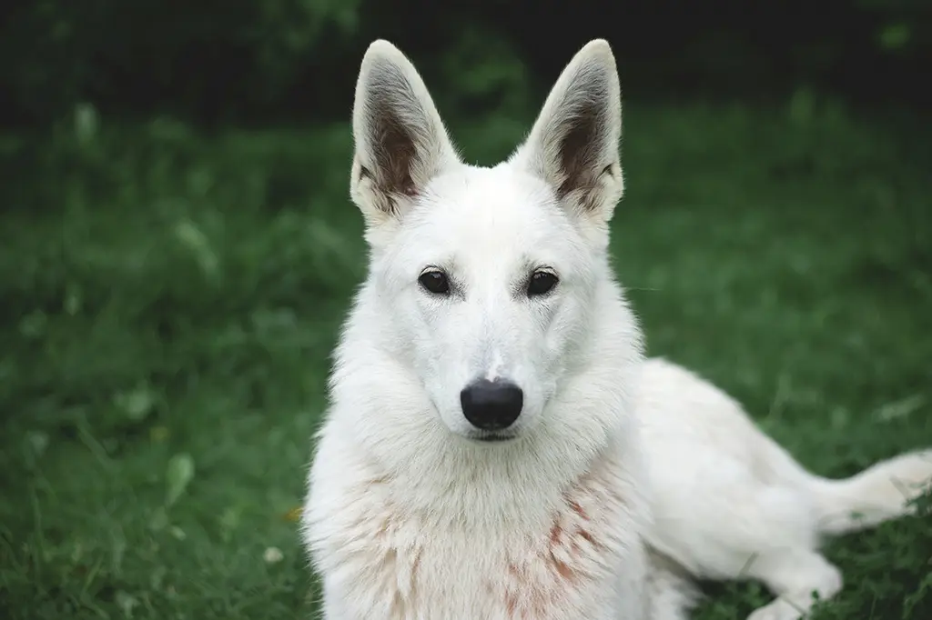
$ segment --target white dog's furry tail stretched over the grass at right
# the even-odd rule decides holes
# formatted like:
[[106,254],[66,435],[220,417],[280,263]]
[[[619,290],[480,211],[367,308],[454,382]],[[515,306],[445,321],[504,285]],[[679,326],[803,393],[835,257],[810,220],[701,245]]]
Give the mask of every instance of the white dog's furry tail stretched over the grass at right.
[[932,489],[932,449],[907,452],[841,480],[811,478],[819,532],[857,532],[915,512]]

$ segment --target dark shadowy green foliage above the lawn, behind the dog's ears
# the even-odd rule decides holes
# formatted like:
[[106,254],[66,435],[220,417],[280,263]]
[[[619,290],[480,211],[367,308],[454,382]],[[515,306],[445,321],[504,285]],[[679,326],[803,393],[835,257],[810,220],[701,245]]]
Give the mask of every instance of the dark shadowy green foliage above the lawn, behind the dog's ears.
[[376,37],[403,47],[439,92],[454,91],[460,112],[486,113],[502,88],[542,88],[595,36],[610,40],[625,90],[640,97],[767,97],[816,84],[856,101],[932,102],[920,86],[932,57],[925,0],[8,0],[0,122],[45,124],[81,101],[108,116],[209,123],[345,119]]

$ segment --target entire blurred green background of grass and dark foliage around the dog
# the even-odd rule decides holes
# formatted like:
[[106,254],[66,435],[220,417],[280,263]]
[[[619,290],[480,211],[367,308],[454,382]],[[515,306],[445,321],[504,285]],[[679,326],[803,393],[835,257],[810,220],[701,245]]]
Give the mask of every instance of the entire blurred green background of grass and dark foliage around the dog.
[[[819,473],[932,445],[932,8],[11,0],[0,8],[0,617],[314,617],[295,535],[362,280],[349,110],[418,64],[466,158],[589,38],[625,93],[651,353]],[[932,618],[932,518],[829,546],[822,620]],[[700,620],[769,595],[708,585]]]

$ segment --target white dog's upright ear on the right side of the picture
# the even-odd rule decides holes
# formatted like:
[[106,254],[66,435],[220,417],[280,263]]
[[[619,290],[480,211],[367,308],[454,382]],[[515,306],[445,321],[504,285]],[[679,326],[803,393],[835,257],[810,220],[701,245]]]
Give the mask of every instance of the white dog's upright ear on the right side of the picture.
[[608,222],[624,193],[621,137],[615,57],[596,39],[569,61],[511,161],[548,182],[568,209]]

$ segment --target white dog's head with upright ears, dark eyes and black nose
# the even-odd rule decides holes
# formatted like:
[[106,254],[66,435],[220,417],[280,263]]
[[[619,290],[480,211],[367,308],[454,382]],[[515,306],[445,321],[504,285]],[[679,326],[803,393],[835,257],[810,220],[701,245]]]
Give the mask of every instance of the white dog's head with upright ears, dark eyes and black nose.
[[528,432],[590,333],[624,188],[609,45],[594,41],[569,62],[514,155],[476,168],[460,161],[411,62],[377,41],[363,58],[353,135],[350,195],[392,348],[453,433]]

